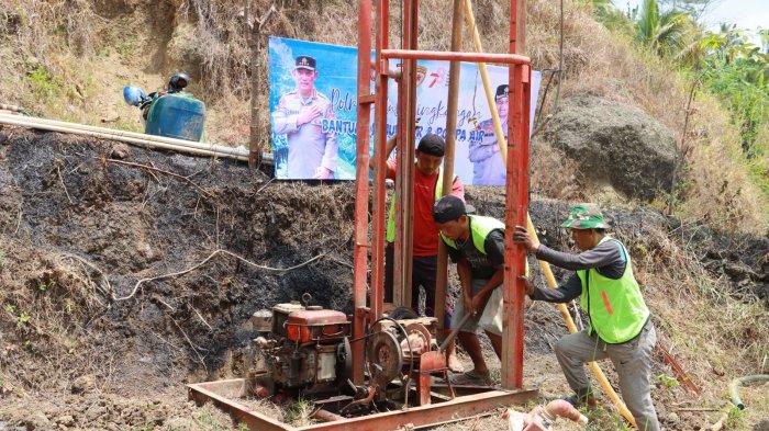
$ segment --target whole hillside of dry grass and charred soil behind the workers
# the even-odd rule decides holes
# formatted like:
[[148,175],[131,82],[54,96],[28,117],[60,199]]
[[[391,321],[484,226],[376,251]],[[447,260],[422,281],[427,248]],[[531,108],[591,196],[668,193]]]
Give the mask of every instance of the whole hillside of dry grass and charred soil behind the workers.
[[[260,14],[272,2],[253,3]],[[266,32],[350,45],[355,3],[276,0]],[[398,44],[400,2],[391,3]],[[448,49],[447,3],[421,1],[423,48]],[[489,52],[506,50],[503,3],[473,1]],[[729,429],[751,429],[769,417],[766,386],[743,392],[746,411],[724,405],[729,379],[769,372],[766,87],[729,92],[738,80],[721,71],[738,75],[739,61],[756,58],[732,56],[720,45],[696,63],[690,50],[677,56],[673,45],[642,37],[659,34],[642,31],[654,29],[642,25],[654,20],[599,1],[564,3],[559,81],[558,2],[528,0],[526,53],[545,76],[540,122],[569,98],[629,104],[672,131],[682,161],[672,191],[633,202],[591,184],[579,160],[537,133],[532,217],[546,243],[565,249],[568,236],[558,225],[567,201],[603,204],[628,246],[660,340],[703,389],[687,393],[657,359],[653,396],[664,424],[694,430],[723,410],[731,413]],[[186,70],[191,91],[209,109],[209,140],[245,145],[249,49],[242,1],[3,1],[0,103],[140,131],[138,111],[125,105],[122,87],[156,89]],[[266,83],[263,90],[266,122]],[[743,90],[753,99],[727,97]],[[122,157],[161,171],[121,165]],[[30,429],[229,429],[214,409],[186,406],[181,383],[242,374],[254,309],[298,298],[309,285],[324,306],[349,307],[350,182],[279,182],[233,161],[0,127],[0,428],[9,421]],[[468,188],[467,197],[482,214],[502,215],[499,189]],[[196,271],[154,279],[192,268],[219,249],[274,269],[325,257],[282,273],[220,256]],[[554,394],[567,389],[551,349],[565,332],[553,307],[527,309],[527,384]],[[625,429],[608,410],[591,420],[592,430]],[[468,429],[495,426],[477,420]]]

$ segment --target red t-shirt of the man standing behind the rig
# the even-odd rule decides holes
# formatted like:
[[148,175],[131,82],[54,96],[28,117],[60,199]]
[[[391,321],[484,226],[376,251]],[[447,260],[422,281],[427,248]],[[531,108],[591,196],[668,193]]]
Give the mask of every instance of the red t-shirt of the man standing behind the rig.
[[[387,178],[395,179],[397,167],[393,160],[387,161]],[[433,219],[435,185],[438,172],[425,175],[414,168],[414,257],[424,258],[438,254],[438,228]],[[452,194],[465,201],[465,185],[459,178],[454,179]]]

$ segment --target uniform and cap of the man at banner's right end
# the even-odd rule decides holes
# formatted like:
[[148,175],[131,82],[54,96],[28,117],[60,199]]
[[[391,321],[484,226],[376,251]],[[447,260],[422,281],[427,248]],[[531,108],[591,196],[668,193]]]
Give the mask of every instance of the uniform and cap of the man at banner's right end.
[[[497,87],[494,100],[508,97],[508,84]],[[508,116],[501,117],[502,132],[508,138]],[[470,141],[470,161],[472,162],[472,185],[503,185],[505,182],[505,166],[500,154],[494,123],[489,120],[478,124],[478,129],[483,132],[481,140]]]

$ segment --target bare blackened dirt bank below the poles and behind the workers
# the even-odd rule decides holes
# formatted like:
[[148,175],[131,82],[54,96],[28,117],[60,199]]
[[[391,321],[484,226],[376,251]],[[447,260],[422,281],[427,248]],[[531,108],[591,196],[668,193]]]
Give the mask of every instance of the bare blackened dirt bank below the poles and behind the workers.
[[[219,429],[215,409],[186,404],[182,384],[242,373],[254,310],[305,292],[350,310],[354,184],[270,178],[229,160],[0,129],[0,420],[29,430]],[[502,216],[500,190],[467,196],[480,214]],[[544,242],[568,246],[557,227],[566,208],[533,201]],[[683,243],[729,297],[769,300],[766,237],[648,209],[608,213],[634,259]],[[243,260],[219,253],[200,264],[220,249]],[[553,307],[530,308],[526,382],[544,393],[566,389],[551,354],[564,333]],[[656,372],[671,375],[661,363]],[[702,417],[667,408],[683,389],[664,389],[655,398],[666,427],[696,429]]]

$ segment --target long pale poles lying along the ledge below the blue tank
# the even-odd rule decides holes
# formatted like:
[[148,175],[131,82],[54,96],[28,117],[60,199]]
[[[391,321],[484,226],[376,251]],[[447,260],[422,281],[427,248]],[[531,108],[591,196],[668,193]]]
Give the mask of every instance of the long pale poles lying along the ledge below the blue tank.
[[85,124],[67,123],[55,120],[0,114],[0,124],[93,136],[97,138],[113,139],[148,148],[170,149],[202,156],[229,157],[236,160],[248,160],[248,151],[238,148],[213,144],[201,144],[191,140],[118,131],[113,128],[88,126]]

